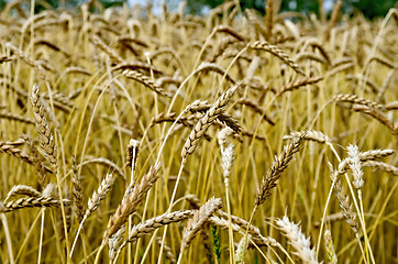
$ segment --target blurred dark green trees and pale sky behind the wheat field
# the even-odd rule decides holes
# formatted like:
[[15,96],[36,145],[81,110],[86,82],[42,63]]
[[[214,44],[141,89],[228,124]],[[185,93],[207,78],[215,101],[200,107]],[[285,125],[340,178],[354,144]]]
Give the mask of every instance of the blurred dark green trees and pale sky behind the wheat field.
[[[29,9],[30,0],[13,0],[13,2],[26,2],[26,9]],[[237,0],[236,0],[237,1]],[[327,14],[330,14],[333,8],[333,4],[336,0],[279,0],[275,1],[276,4],[280,6],[280,12],[284,11],[296,11],[303,12],[306,14],[314,13],[319,14],[320,8],[322,8]],[[0,9],[3,9],[7,3],[10,3],[10,0],[0,0]],[[134,7],[135,4],[151,7],[154,14],[162,13],[162,4],[165,3],[169,11],[177,11],[178,6],[183,2],[181,0],[35,0],[35,12],[40,12],[44,9],[49,8],[67,8],[67,9],[77,9],[81,3],[96,2],[90,4],[92,8],[91,12],[98,12],[98,4],[101,4],[103,8],[110,7]],[[206,15],[209,13],[210,9],[223,3],[223,0],[187,0],[185,12],[192,14],[202,14]],[[258,12],[264,13],[266,1],[264,0],[241,0],[240,4],[242,10],[256,9]],[[344,0],[342,11],[346,14],[353,15],[355,12],[363,13],[368,19],[375,19],[378,16],[384,16],[387,14],[390,8],[398,7],[396,0]]]

